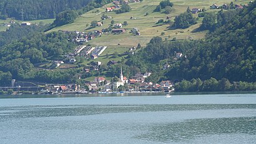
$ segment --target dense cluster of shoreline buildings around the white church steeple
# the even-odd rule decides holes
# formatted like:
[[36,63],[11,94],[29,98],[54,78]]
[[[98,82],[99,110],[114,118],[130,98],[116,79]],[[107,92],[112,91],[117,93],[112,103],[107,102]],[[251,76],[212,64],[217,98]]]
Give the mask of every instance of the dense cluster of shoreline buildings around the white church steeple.
[[145,78],[151,73],[137,73],[130,79],[127,79],[121,73],[117,81],[108,81],[104,77],[96,77],[94,81],[87,83],[90,92],[170,92],[174,91],[173,83],[171,81],[162,81],[159,84],[152,82],[146,83]]

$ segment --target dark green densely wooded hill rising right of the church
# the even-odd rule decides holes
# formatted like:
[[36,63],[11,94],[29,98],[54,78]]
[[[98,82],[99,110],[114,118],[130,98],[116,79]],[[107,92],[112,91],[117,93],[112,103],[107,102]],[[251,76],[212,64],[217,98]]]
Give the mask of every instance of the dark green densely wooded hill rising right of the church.
[[[256,81],[256,2],[244,9],[220,11],[215,30],[202,40],[164,42],[160,37],[150,40],[144,50],[131,56],[127,65],[155,71],[149,78],[216,79]],[[183,56],[175,58],[175,53]],[[162,70],[164,65],[170,65]]]

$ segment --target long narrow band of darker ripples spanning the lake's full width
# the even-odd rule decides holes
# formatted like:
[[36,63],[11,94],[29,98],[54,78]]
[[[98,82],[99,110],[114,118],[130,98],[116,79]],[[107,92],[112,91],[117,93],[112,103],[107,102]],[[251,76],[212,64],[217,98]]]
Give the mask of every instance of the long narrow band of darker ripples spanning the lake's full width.
[[144,104],[144,105],[64,105],[0,107],[0,120],[28,117],[64,117],[126,112],[159,112],[184,110],[256,109],[256,104]]

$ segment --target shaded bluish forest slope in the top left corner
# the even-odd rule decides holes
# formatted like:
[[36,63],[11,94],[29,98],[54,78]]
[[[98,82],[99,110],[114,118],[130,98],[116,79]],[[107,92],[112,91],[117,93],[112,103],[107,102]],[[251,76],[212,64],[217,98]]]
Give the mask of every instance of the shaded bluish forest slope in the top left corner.
[[1,0],[0,13],[18,20],[55,18],[67,9],[77,10],[92,0]]

